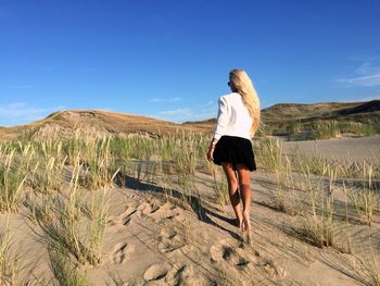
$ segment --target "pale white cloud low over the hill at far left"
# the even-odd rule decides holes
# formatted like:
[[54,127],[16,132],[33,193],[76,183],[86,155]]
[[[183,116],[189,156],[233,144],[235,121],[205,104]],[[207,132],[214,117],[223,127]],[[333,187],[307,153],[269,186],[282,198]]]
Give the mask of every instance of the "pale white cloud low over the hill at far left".
[[25,102],[14,102],[0,105],[0,125],[17,125],[36,121],[49,113],[62,110],[63,107],[36,108]]

